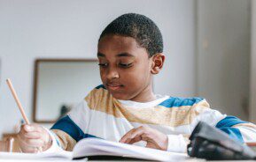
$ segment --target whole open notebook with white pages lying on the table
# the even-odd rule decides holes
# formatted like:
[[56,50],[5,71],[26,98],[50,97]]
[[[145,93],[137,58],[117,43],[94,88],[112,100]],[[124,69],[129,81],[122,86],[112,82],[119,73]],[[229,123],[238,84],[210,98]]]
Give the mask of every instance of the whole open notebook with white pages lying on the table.
[[[155,149],[144,148],[131,144],[120,144],[106,141],[99,138],[85,138],[74,146],[74,151],[59,151],[54,153],[7,153],[1,152],[1,158],[139,158],[159,161],[178,161],[188,158],[187,154],[168,151],[159,151]],[[109,158],[110,159],[110,158]]]

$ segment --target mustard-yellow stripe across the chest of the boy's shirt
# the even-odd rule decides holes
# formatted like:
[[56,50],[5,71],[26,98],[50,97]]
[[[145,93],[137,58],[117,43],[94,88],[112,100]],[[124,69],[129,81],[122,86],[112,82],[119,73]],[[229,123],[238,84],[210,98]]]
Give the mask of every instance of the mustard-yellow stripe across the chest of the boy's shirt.
[[125,118],[129,122],[166,125],[177,127],[190,124],[195,117],[209,107],[206,100],[193,106],[182,107],[124,107],[105,89],[94,89],[85,98],[90,109],[112,114],[116,118]]

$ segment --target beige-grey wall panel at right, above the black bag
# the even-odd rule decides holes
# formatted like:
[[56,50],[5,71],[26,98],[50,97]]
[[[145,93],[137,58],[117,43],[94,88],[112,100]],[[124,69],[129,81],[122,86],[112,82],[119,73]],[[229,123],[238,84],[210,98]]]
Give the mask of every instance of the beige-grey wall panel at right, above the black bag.
[[248,121],[250,0],[198,0],[198,95]]

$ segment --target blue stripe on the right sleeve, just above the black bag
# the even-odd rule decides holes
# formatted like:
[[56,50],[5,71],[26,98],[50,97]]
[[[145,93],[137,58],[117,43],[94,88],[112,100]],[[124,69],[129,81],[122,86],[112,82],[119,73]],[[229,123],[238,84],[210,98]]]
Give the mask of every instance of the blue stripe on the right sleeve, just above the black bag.
[[237,128],[232,128],[232,126],[240,123],[247,123],[247,122],[244,122],[235,116],[227,116],[224,119],[222,119],[220,122],[218,122],[215,127],[218,129],[221,129],[222,131],[227,133],[230,137],[244,143],[244,139],[240,130]]

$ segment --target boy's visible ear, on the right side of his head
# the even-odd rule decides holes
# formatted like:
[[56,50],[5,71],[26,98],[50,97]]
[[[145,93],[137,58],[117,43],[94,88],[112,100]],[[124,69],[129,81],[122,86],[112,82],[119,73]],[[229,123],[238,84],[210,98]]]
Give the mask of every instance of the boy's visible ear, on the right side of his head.
[[159,53],[152,56],[152,66],[151,66],[151,74],[158,74],[159,71],[163,68],[165,63],[165,55],[163,53]]

